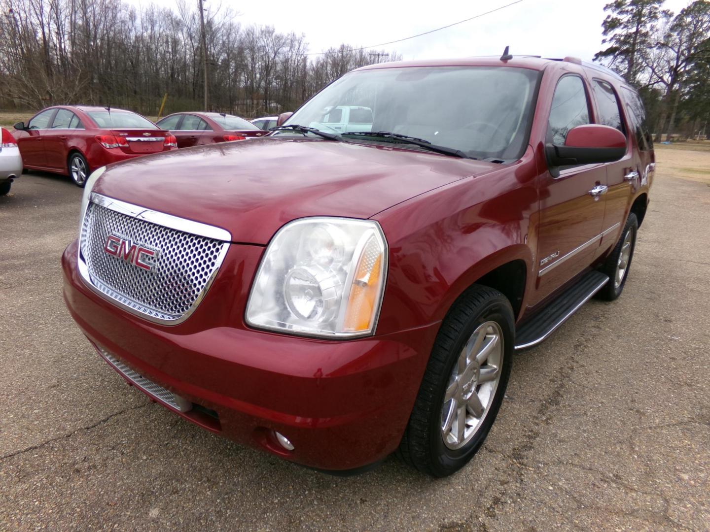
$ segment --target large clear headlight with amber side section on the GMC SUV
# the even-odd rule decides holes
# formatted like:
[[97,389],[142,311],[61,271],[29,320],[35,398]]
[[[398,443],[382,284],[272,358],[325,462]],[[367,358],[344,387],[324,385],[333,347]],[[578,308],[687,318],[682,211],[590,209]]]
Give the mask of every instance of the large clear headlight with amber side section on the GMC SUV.
[[387,274],[387,244],[377,222],[302,218],[286,224],[256,272],[246,321],[312,336],[375,331]]

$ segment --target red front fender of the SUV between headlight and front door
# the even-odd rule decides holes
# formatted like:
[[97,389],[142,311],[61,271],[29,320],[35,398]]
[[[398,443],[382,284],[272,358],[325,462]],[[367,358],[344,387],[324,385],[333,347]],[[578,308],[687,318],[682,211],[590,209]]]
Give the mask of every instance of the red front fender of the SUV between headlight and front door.
[[378,334],[441,321],[477,279],[513,260],[532,278],[535,163],[461,179],[375,216],[390,247]]

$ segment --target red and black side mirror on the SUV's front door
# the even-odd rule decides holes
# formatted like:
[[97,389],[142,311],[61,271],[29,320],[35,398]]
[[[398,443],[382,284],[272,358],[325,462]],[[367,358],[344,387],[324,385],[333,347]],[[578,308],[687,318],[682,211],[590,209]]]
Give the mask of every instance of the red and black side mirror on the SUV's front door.
[[626,153],[626,137],[618,129],[591,123],[572,128],[564,146],[547,144],[545,155],[550,173],[559,176],[560,166],[592,165],[614,162]]

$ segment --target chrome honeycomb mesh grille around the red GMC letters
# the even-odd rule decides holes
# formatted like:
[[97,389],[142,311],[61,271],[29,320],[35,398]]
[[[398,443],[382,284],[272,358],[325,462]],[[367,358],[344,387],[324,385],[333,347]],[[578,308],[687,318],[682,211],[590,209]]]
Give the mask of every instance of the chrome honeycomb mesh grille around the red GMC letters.
[[[110,209],[115,201],[105,203],[89,202],[82,224],[80,260],[89,282],[134,313],[162,323],[180,323],[204,297],[229,243]],[[153,271],[109,255],[104,246],[111,234],[158,250]]]

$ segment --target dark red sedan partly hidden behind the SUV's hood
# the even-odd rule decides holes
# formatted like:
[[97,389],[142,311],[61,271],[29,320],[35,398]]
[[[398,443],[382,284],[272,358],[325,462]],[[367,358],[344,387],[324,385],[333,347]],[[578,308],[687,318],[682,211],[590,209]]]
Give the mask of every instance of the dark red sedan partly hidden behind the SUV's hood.
[[158,121],[178,139],[178,148],[262,137],[268,131],[225,113],[173,113]]

